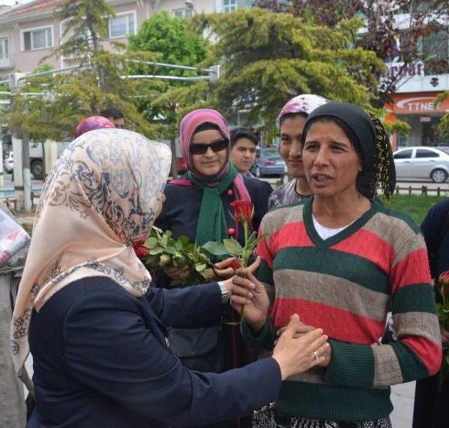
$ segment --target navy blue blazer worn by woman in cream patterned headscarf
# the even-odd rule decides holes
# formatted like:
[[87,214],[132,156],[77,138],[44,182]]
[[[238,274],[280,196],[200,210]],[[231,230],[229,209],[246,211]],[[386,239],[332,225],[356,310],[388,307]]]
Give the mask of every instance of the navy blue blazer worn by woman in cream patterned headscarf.
[[220,308],[216,283],[144,297],[100,276],[66,286],[29,327],[39,426],[199,426],[274,401],[272,358],[218,375],[188,370],[168,349],[166,327],[213,325]]

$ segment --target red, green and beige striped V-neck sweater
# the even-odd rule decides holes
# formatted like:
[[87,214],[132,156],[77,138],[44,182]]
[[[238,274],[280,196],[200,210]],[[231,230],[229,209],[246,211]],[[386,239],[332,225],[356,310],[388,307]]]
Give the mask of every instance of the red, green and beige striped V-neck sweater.
[[[292,416],[361,421],[391,413],[389,385],[433,375],[441,363],[441,337],[427,251],[408,216],[374,203],[330,239],[320,238],[313,198],[265,215],[269,238],[257,252],[257,276],[274,295],[271,319],[251,347],[269,347],[276,328],[294,313],[330,337],[327,368],[283,382],[276,408]],[[398,340],[382,345],[387,313]]]

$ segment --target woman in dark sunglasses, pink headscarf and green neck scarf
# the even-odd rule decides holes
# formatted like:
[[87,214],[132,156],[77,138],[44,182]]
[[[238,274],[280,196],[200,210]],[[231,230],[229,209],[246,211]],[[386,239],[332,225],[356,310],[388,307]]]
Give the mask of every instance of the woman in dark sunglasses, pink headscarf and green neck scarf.
[[[229,162],[229,128],[225,118],[212,109],[197,109],[187,114],[180,125],[182,155],[189,170],[180,180],[166,185],[166,203],[156,226],[170,229],[173,236],[185,235],[202,245],[222,241],[243,233],[232,218],[230,204],[236,199],[250,199],[254,205],[253,229],[257,230],[271,189],[255,178],[243,178]],[[166,269],[156,279],[157,286],[168,287],[173,279],[186,272]],[[225,321],[238,319],[228,308]],[[192,370],[221,373],[249,361],[239,329],[221,326],[170,330],[170,347]],[[232,427],[225,422],[223,427]]]

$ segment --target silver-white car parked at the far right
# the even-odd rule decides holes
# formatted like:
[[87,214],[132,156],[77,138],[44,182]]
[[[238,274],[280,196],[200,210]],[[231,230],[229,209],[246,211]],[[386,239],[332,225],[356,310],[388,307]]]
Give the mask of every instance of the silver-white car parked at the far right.
[[442,183],[449,176],[449,154],[434,147],[403,147],[393,154],[396,178],[431,178]]

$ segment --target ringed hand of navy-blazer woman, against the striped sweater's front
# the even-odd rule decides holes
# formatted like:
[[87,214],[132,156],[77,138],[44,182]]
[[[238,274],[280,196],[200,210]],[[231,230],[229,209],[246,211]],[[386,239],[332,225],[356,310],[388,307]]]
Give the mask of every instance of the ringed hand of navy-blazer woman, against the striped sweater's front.
[[[273,350],[273,358],[279,363],[282,380],[304,373],[325,361],[323,356],[328,352],[328,336],[317,328],[295,337],[300,327],[300,317],[293,314],[287,328],[281,334]],[[315,354],[316,352],[316,354]],[[316,358],[318,355],[318,358]]]

